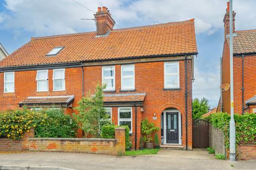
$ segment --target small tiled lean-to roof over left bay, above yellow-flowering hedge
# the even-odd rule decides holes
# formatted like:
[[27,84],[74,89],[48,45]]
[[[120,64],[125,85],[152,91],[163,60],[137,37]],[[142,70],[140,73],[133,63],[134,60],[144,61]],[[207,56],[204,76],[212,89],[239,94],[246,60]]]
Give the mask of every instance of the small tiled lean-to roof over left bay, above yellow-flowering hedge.
[[21,101],[20,105],[36,105],[36,104],[71,104],[75,96],[42,96],[27,97]]

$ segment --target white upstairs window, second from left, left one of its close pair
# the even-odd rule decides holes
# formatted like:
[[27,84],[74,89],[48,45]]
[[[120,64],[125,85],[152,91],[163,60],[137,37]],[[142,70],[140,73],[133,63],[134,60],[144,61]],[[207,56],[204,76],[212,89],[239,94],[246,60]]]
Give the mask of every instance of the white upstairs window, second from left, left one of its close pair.
[[49,91],[48,70],[38,70],[36,74],[37,91]]

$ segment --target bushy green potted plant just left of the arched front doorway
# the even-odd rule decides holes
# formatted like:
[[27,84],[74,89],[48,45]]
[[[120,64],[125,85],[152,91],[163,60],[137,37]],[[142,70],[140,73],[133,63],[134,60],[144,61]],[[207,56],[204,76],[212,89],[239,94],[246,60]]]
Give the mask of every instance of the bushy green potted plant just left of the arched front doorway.
[[159,128],[157,128],[154,123],[149,123],[147,118],[141,121],[141,134],[143,135],[143,141],[146,143],[146,149],[154,148],[152,135],[158,130]]

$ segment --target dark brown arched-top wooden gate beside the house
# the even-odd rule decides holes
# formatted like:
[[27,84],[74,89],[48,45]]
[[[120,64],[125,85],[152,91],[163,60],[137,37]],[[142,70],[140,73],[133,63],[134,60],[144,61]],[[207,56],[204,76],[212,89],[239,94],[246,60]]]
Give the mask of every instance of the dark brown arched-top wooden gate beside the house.
[[193,148],[209,147],[209,121],[193,120]]

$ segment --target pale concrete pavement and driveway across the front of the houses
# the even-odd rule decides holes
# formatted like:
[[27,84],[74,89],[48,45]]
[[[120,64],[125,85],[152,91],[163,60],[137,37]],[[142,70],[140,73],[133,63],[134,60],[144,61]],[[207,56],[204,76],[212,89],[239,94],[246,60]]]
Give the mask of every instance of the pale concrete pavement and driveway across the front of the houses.
[[205,150],[161,150],[157,155],[106,156],[63,152],[0,154],[0,165],[59,166],[73,169],[256,169],[256,162],[217,160]]

